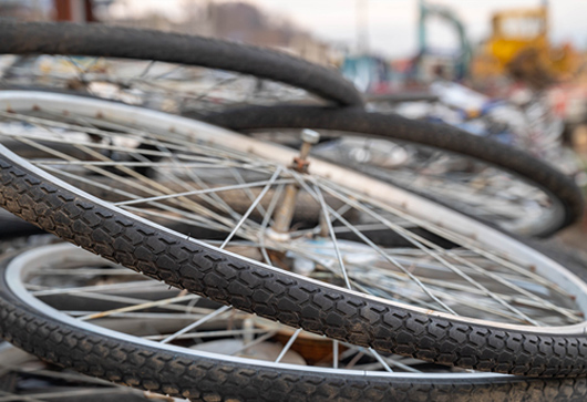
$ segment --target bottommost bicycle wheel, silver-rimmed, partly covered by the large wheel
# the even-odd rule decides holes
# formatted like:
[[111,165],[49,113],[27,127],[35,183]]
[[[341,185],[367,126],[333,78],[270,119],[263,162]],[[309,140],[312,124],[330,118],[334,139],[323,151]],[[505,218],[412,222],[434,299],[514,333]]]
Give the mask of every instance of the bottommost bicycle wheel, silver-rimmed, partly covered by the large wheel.
[[287,328],[132,274],[66,244],[6,258],[1,331],[59,365],[193,400],[580,401],[587,392],[585,378],[451,372],[378,355],[387,371],[362,348],[305,332],[292,340]]

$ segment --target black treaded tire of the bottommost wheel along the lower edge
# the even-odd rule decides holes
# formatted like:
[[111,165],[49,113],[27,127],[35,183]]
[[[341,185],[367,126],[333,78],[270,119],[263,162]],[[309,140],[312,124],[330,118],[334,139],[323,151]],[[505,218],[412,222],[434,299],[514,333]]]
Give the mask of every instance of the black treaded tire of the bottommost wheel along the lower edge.
[[[581,401],[587,379],[487,374],[333,374],[288,364],[277,369],[197,351],[121,339],[75,324],[21,299],[7,280],[13,257],[0,261],[0,333],[41,359],[127,386],[194,401]],[[29,265],[25,265],[29,267]],[[11,279],[9,279],[11,278]],[[95,327],[95,328],[93,328]],[[151,344],[150,344],[151,343]]]

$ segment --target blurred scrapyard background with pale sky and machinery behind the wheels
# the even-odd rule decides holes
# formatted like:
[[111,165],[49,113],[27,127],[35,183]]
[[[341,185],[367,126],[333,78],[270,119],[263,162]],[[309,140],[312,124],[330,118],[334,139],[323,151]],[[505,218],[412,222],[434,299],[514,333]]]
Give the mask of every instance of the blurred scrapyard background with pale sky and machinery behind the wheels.
[[402,113],[457,120],[449,123],[474,134],[471,122],[495,100],[527,105],[539,93],[581,161],[573,173],[583,185],[585,16],[583,0],[0,0],[0,19],[103,22],[276,48],[338,69],[368,100],[440,99],[450,111],[410,102]]

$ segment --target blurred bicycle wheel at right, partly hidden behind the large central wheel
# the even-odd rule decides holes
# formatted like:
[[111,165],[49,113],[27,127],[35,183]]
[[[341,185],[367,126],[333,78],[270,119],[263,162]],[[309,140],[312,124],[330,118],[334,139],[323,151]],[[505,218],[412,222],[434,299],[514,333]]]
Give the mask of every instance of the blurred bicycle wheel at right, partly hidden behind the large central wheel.
[[[447,125],[303,106],[248,107],[205,120],[249,133],[289,130],[292,136],[296,128],[312,128],[342,137],[321,145],[316,155],[524,236],[549,236],[583,214],[583,195],[570,177],[523,152]],[[389,168],[369,164],[367,158],[378,155]]]

